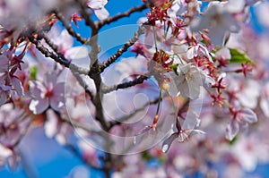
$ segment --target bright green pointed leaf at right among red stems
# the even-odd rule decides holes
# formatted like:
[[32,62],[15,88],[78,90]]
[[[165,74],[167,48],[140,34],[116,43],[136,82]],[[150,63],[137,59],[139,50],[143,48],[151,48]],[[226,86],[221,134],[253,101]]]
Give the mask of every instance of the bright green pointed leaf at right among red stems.
[[245,52],[235,49],[235,48],[229,48],[230,49],[230,64],[255,64]]

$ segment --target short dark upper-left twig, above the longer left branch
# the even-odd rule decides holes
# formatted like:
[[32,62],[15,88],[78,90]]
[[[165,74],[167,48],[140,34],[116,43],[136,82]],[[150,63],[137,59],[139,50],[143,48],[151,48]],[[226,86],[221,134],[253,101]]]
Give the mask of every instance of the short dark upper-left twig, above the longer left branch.
[[65,29],[68,31],[68,33],[72,37],[76,38],[76,40],[81,42],[82,44],[89,42],[87,38],[82,38],[80,34],[78,34],[77,32],[73,30],[72,25],[68,23],[67,21],[65,21],[65,17],[63,16],[62,13],[59,13],[57,11],[55,13],[56,13],[57,19],[63,23],[63,25],[65,26]]

